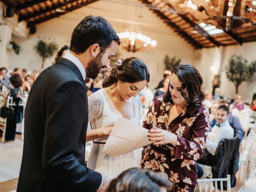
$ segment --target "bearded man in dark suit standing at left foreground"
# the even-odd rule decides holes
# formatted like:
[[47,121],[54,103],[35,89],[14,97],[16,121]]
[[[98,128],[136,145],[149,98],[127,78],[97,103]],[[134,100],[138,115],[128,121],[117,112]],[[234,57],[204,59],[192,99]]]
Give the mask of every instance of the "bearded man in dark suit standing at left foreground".
[[34,82],[25,110],[17,192],[95,192],[109,179],[86,168],[88,101],[84,80],[110,64],[120,40],[104,18],[88,16],[74,29],[70,53]]

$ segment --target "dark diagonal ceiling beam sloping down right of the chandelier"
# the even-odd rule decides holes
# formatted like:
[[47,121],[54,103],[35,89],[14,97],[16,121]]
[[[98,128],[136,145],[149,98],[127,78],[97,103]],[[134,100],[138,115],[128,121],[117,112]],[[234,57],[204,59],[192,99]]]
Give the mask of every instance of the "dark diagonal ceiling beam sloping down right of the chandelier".
[[[142,1],[142,3],[144,4],[150,4],[150,1],[148,0],[140,0]],[[152,11],[157,14],[158,16],[160,16],[160,18],[164,19],[164,20],[170,20],[167,16],[165,16],[162,12],[160,12],[159,10],[154,10],[152,9]],[[179,26],[177,26],[174,22],[169,21],[166,22],[164,21],[170,28],[172,29],[178,29],[181,30],[178,32],[178,34],[180,34],[184,39],[186,39],[188,42],[190,42],[190,44],[192,44],[192,46],[194,48],[203,48],[203,46],[201,44],[199,44],[198,42],[196,42],[193,38],[191,38],[188,34],[186,34],[186,32],[184,32],[182,29],[180,29]]]

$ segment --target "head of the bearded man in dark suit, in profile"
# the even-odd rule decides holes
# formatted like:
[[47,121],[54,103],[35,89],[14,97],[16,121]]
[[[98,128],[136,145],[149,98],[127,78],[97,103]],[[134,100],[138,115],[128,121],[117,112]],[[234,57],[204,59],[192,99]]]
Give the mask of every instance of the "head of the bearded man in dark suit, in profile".
[[119,44],[120,39],[106,19],[87,16],[74,28],[69,49],[85,67],[86,76],[95,79],[101,68],[108,68]]

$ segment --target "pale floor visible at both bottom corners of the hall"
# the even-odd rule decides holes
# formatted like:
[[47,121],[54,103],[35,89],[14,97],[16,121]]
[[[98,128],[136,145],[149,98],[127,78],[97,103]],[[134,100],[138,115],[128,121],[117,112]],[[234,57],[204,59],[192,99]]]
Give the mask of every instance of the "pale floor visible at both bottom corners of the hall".
[[[16,139],[12,142],[0,143],[0,192],[16,192],[22,148],[23,142],[20,134],[16,134]],[[256,178],[249,179],[243,189],[242,178],[240,178],[240,181],[237,181],[236,186],[231,190],[232,192],[256,192],[255,183]]]

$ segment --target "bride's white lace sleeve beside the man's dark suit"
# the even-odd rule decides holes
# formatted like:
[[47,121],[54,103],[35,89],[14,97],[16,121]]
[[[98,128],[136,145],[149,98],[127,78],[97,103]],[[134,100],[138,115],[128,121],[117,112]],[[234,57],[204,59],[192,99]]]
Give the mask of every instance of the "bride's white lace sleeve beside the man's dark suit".
[[94,92],[88,97],[88,122],[95,118],[102,117],[103,112],[103,98],[100,90]]

